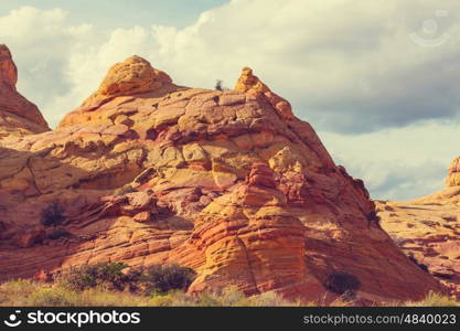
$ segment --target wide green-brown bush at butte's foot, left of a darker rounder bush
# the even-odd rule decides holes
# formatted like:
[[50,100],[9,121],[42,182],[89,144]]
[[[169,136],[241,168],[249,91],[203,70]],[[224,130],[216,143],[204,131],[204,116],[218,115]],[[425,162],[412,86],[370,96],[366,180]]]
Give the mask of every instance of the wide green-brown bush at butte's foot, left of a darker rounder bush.
[[57,281],[66,288],[82,291],[95,287],[108,287],[121,290],[131,281],[129,275],[121,270],[128,265],[124,263],[99,263],[72,267],[57,276]]

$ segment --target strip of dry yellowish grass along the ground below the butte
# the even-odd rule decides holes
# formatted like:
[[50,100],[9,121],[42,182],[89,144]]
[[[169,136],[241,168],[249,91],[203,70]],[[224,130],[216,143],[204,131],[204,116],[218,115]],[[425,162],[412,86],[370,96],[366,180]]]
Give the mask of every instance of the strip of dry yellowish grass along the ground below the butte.
[[[340,301],[340,300],[339,300]],[[334,301],[333,306],[346,306]],[[339,303],[339,305],[338,305]],[[69,290],[62,285],[46,285],[30,280],[14,280],[0,285],[0,306],[10,307],[312,307],[312,302],[289,301],[274,292],[246,297],[234,287],[221,293],[204,292],[199,296],[183,291],[170,291],[145,296],[104,287],[83,291]],[[323,305],[321,305],[323,306]],[[392,306],[402,307],[453,307],[460,302],[430,292],[421,301],[408,301]]]

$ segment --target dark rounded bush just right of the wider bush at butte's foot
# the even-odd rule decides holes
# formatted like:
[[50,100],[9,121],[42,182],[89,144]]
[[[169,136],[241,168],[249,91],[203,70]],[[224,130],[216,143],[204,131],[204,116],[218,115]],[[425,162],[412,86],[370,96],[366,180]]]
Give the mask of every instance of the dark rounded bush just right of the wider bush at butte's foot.
[[195,279],[196,273],[179,265],[154,265],[147,269],[142,280],[150,292],[186,290]]

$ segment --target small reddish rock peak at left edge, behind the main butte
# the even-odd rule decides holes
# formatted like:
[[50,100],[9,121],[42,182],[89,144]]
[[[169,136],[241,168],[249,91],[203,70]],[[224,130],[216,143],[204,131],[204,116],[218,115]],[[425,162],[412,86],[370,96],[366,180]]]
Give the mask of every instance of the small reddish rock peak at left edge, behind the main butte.
[[39,108],[18,93],[17,82],[11,53],[0,44],[0,138],[50,130]]

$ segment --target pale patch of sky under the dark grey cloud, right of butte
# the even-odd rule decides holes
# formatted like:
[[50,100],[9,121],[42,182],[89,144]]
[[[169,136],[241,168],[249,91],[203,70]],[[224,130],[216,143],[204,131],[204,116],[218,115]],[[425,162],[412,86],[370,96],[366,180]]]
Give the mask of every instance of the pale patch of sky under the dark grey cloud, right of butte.
[[424,122],[363,135],[320,132],[338,163],[375,199],[410,200],[439,191],[459,154],[460,124]]

